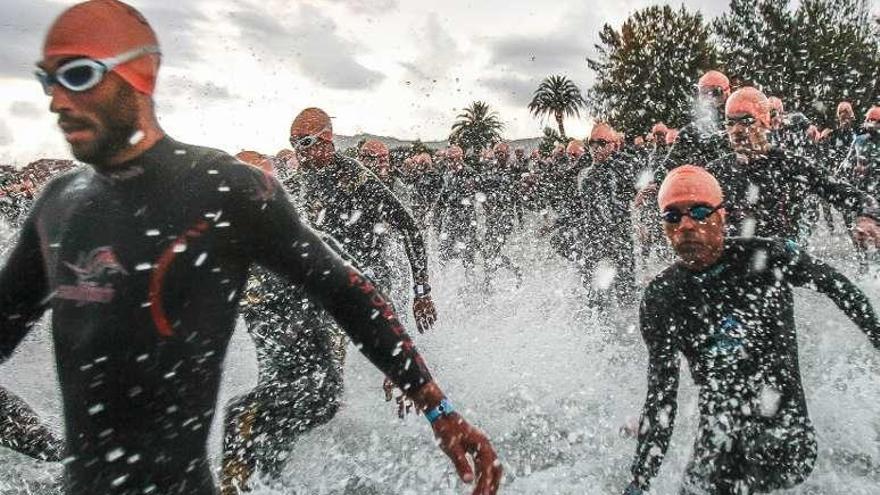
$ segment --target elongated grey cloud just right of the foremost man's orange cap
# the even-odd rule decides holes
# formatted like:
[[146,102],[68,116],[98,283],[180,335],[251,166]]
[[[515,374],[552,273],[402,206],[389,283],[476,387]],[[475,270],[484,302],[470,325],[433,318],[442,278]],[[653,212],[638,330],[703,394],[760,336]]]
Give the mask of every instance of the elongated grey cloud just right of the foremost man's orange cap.
[[334,89],[363,90],[378,85],[385,76],[355,58],[358,45],[338,33],[336,22],[315,7],[303,5],[294,22],[256,9],[232,14],[245,43],[255,51],[291,62],[302,76]]

